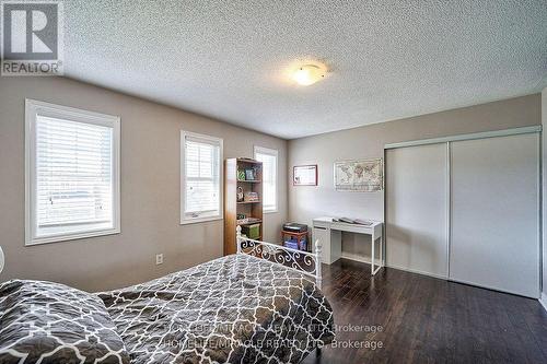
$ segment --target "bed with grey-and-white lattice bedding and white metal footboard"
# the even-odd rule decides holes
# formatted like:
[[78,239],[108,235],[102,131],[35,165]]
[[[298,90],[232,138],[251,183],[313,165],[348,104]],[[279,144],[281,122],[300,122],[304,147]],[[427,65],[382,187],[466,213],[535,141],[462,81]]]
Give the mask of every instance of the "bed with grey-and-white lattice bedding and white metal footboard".
[[237,243],[236,255],[96,294],[0,284],[0,362],[299,363],[329,344],[321,248],[296,251],[240,231]]

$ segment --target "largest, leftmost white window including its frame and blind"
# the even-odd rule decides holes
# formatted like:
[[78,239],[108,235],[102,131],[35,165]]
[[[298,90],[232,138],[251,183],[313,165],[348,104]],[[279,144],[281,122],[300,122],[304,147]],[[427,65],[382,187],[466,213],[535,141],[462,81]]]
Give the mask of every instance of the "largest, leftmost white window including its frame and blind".
[[25,102],[25,244],[119,233],[119,118]]

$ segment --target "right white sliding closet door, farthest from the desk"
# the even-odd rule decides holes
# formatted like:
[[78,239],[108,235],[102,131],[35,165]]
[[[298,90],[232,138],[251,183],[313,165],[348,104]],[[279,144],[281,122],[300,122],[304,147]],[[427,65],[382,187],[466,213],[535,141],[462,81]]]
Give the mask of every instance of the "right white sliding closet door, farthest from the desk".
[[538,296],[538,138],[451,143],[451,280]]

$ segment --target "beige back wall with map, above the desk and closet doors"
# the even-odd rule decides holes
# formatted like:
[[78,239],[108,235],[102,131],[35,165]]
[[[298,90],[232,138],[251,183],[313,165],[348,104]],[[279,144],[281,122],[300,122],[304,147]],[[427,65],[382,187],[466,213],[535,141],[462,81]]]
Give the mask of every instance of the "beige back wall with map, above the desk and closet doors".
[[[317,187],[289,184],[289,220],[310,224],[322,215],[384,220],[383,192],[334,190],[333,163],[351,158],[383,157],[384,144],[542,124],[540,95],[412,117],[289,141],[289,168],[318,165]],[[289,173],[292,178],[292,172]],[[365,237],[345,234],[347,253],[370,256]]]

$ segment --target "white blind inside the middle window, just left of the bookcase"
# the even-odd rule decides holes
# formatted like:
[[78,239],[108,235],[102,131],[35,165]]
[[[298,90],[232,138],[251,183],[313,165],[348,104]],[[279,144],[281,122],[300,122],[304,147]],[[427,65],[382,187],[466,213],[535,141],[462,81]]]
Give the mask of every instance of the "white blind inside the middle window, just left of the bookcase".
[[186,218],[220,214],[220,143],[185,137]]

